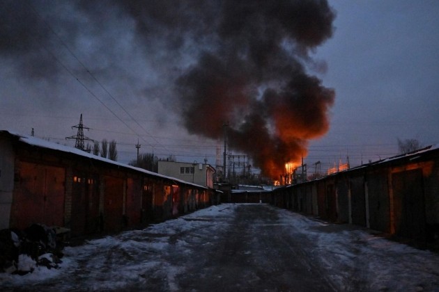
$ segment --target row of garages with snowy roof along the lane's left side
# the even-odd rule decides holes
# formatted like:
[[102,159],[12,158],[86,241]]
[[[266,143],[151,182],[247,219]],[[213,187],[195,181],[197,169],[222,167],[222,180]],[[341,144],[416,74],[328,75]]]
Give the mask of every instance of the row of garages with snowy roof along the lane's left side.
[[0,229],[118,232],[212,204],[220,192],[79,149],[0,131]]

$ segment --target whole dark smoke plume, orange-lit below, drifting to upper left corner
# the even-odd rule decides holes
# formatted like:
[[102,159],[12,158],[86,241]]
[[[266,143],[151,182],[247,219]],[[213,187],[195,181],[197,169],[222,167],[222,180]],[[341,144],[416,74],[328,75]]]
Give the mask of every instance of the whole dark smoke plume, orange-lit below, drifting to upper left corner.
[[172,88],[174,96],[163,102],[175,105],[187,131],[216,139],[227,123],[229,145],[249,154],[264,175],[279,177],[285,163],[306,156],[310,139],[328,131],[334,90],[308,72],[316,67],[310,52],[333,33],[327,1],[4,0],[0,6],[0,55],[36,80],[60,69],[52,54],[56,38],[82,54],[84,42],[100,40],[99,56],[114,60],[111,35],[118,31],[119,38],[126,28],[134,35],[124,39],[127,45],[141,48]]

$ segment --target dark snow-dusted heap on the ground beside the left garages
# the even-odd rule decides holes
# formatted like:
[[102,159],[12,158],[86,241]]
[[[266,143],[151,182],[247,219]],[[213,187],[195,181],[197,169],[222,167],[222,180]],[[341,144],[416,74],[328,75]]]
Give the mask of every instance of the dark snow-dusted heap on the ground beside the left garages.
[[63,245],[57,231],[39,224],[24,230],[0,230],[0,273],[25,275],[38,266],[59,268]]

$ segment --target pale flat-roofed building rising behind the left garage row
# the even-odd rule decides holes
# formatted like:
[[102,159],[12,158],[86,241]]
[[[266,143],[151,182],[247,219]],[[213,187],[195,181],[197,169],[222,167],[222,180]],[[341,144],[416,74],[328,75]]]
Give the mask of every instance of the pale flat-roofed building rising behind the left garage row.
[[194,163],[158,161],[158,173],[213,188],[215,168],[209,164],[196,163],[195,161]]

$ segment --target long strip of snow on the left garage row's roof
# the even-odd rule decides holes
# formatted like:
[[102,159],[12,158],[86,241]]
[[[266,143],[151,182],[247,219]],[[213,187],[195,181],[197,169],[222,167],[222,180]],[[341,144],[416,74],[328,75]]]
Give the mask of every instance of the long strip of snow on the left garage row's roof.
[[130,168],[132,170],[136,170],[138,172],[143,172],[147,175],[151,175],[154,177],[161,177],[163,179],[169,179],[169,180],[173,180],[173,181],[177,181],[180,182],[182,184],[188,184],[188,185],[192,185],[192,186],[197,186],[197,187],[201,187],[201,188],[207,188],[206,186],[200,186],[198,184],[192,184],[189,181],[183,181],[181,179],[176,179],[175,177],[167,177],[166,175],[160,175],[157,172],[151,172],[149,170],[145,170],[143,168],[136,168],[132,165],[128,165],[125,163],[120,163],[117,161],[112,161],[111,159],[106,159],[104,157],[98,156],[98,155],[94,155],[94,154],[90,154],[88,152],[84,152],[81,149],[77,149],[75,147],[70,147],[70,146],[66,146],[66,145],[61,145],[58,143],[53,143],[44,139],[40,139],[40,138],[36,138],[34,136],[28,136],[28,135],[23,135],[20,133],[16,133],[14,131],[8,131],[8,130],[1,130],[0,133],[8,133],[11,136],[15,136],[17,138],[19,138],[20,142],[26,143],[28,145],[31,146],[36,146],[36,147],[41,147],[41,148],[46,148],[46,149],[52,149],[52,150],[56,150],[56,151],[60,151],[60,152],[65,152],[65,153],[72,153],[75,155],[79,155],[79,156],[84,156],[87,157],[88,159],[93,159],[93,160],[98,160],[98,161],[102,161],[105,163],[109,163],[112,165],[118,165],[120,167],[123,168]]

